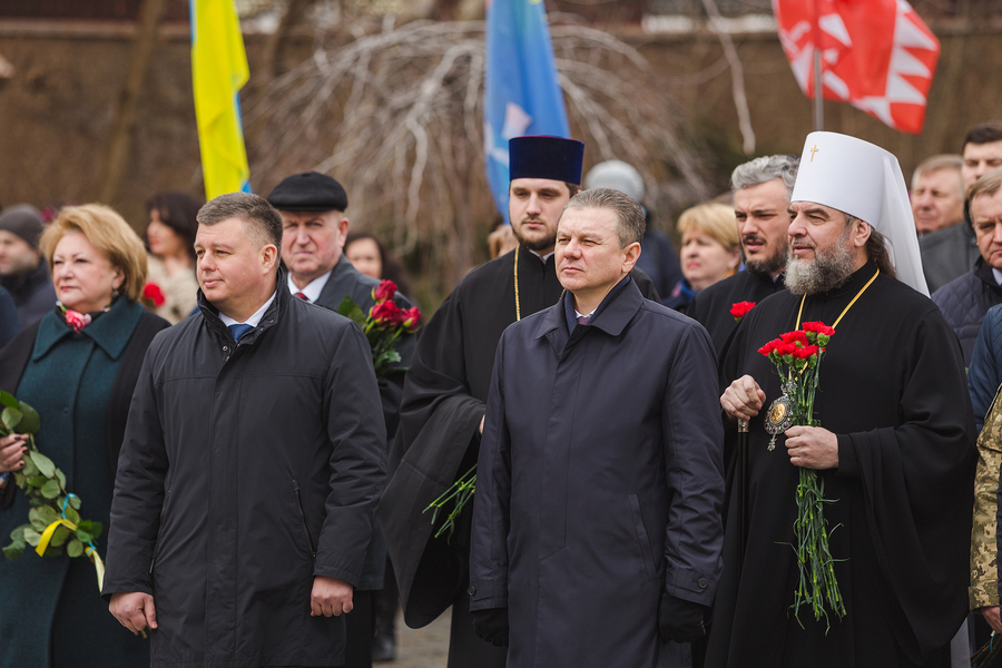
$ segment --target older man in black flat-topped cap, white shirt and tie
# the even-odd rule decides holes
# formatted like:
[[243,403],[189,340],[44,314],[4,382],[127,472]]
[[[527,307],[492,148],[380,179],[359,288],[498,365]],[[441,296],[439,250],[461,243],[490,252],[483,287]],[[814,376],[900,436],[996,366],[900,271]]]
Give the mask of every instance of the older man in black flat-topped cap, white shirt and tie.
[[[288,269],[289,292],[331,311],[336,311],[347,295],[369,313],[375,303],[373,289],[380,282],[355,269],[342,253],[348,230],[344,187],[325,174],[295,174],[275,186],[268,202],[282,214],[282,261]],[[411,306],[400,293],[394,301],[401,308]],[[380,380],[387,440],[400,420],[404,371],[414,353],[414,337],[402,335],[395,348],[401,369]],[[374,593],[383,588],[385,564],[386,543],[376,528],[355,589],[354,609],[345,617],[345,668],[372,666]]]

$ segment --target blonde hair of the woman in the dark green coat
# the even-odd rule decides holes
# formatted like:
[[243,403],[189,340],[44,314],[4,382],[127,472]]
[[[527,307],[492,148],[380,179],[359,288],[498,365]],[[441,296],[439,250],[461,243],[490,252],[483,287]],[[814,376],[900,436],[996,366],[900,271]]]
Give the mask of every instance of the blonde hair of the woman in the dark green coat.
[[115,209],[102,204],[60,209],[39,240],[39,249],[49,263],[50,272],[56,245],[71,232],[82,233],[95,248],[102,250],[111,266],[125,276],[119,292],[130,302],[139,299],[146,285],[146,248],[129,224]]

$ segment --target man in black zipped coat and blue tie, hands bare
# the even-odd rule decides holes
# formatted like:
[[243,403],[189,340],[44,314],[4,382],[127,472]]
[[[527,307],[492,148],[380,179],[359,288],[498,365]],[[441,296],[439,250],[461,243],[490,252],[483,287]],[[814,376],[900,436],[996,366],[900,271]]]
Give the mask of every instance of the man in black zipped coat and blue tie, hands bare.
[[369,342],[285,288],[267,202],[198,222],[200,316],[146,355],[102,593],[155,662],[340,666],[385,473]]

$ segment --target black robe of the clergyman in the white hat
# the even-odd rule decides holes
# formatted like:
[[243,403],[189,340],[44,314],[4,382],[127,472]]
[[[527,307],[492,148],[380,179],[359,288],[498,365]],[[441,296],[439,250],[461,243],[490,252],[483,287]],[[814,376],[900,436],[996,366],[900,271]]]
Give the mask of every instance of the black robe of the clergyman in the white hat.
[[[800,323],[833,324],[875,271],[867,264],[841,288],[808,297]],[[725,386],[749,374],[766,406],[780,395],[758,348],[795,328],[799,304],[780,292],[744,318],[721,362]],[[815,405],[838,438],[838,468],[818,473],[834,501],[825,514],[847,615],[831,619],[827,636],[806,610],[806,629],[789,615],[798,470],[783,436],[767,450],[763,410],[750,421],[745,561],[730,494],[706,666],[949,665],[946,646],[967,611],[976,460],[956,337],[929,298],[881,275],[836,327]]]

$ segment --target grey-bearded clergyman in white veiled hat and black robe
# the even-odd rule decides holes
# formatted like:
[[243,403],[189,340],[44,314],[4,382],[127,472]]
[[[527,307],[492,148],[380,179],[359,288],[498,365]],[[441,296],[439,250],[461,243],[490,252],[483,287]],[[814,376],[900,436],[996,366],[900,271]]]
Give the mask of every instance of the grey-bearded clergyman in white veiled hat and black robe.
[[[729,456],[738,421],[749,434],[746,465],[729,469],[728,489],[743,491],[729,495],[706,666],[946,667],[966,615],[974,425],[960,345],[926,296],[897,159],[808,135],[789,215],[789,292],[755,306],[721,358]],[[783,392],[758,348],[818,321],[834,327],[819,426],[790,426],[769,451],[764,423]],[[800,468],[829,500],[843,617],[792,612]]]

